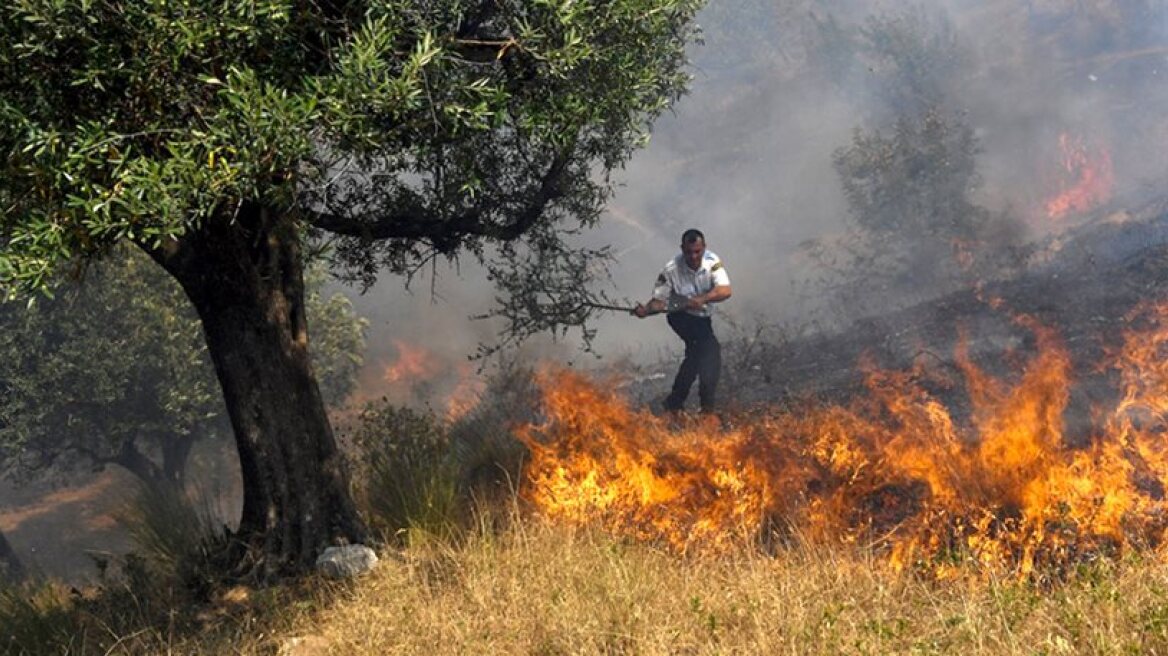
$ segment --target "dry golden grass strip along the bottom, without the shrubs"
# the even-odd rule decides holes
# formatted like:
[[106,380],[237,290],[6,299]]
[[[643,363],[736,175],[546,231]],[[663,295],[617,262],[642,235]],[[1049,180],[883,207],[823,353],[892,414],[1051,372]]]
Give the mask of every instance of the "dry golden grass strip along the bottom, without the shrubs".
[[77,626],[107,633],[70,652],[1168,654],[1159,559],[936,582],[843,550],[681,558],[536,519],[413,540],[356,581],[228,591],[169,627],[100,608]]

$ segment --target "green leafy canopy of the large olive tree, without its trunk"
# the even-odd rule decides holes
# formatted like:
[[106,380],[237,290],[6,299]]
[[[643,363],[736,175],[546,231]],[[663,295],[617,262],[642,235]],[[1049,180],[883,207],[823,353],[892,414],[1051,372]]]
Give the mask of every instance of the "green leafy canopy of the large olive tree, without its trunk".
[[684,91],[700,5],[11,2],[0,294],[244,202],[298,230],[327,214],[405,235],[342,231],[336,264],[360,278],[590,225],[607,172]]

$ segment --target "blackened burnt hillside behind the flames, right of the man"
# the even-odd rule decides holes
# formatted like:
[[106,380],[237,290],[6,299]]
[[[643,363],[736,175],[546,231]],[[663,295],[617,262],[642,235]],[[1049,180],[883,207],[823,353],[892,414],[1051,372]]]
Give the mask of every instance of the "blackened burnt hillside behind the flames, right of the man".
[[[1120,343],[1128,315],[1141,302],[1168,296],[1168,202],[1139,211],[1112,212],[1034,244],[1021,275],[962,289],[927,302],[869,316],[835,333],[783,342],[723,339],[719,403],[728,409],[795,399],[840,402],[863,389],[860,367],[924,367],[953,379],[954,348],[964,333],[973,361],[1010,379],[1035,353],[1031,329],[1013,319],[1027,315],[1062,336],[1077,384],[1068,409],[1069,433],[1087,421],[1090,407],[1114,392],[1112,372],[1100,370],[1108,348]],[[1000,303],[990,303],[997,299]],[[655,407],[673,377],[667,364],[655,377],[632,385],[631,396]],[[933,376],[929,376],[932,378]],[[958,416],[960,385],[932,390]],[[696,389],[690,404],[696,403]]]

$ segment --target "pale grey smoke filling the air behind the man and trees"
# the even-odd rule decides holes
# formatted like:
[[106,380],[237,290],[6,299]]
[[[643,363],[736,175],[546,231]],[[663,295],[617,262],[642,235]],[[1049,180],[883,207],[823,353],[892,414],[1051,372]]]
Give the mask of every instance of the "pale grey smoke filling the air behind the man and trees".
[[[698,228],[734,284],[725,317],[805,319],[799,292],[818,272],[800,244],[848,221],[833,153],[855,130],[887,131],[924,100],[960,117],[979,141],[972,202],[1015,217],[1031,238],[1065,228],[1044,211],[1069,183],[1061,135],[1113,162],[1112,207],[1094,211],[1161,193],[1168,6],[1159,0],[714,0],[700,22],[690,93],[619,172],[605,219],[585,237],[618,256],[613,298],[645,300],[681,232]],[[464,261],[410,289],[381,280],[354,301],[371,320],[370,361],[394,356],[390,337],[463,360],[495,339],[498,326],[468,319],[493,296]],[[679,349],[661,321],[610,314],[597,328],[606,358],[652,362]],[[578,346],[536,340],[527,349],[590,362]]]

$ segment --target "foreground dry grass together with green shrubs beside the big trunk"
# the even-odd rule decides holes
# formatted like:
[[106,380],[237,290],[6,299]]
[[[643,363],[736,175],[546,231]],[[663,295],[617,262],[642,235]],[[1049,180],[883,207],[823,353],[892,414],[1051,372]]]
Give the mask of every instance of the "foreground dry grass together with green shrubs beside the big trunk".
[[155,495],[139,508],[153,518],[138,523],[139,554],[105,587],[0,588],[0,651],[1168,654],[1162,546],[1133,544],[1118,559],[1084,552],[1027,577],[1008,568],[1016,564],[955,564],[937,580],[894,571],[888,553],[855,542],[784,533],[701,557],[550,523],[498,493],[530,462],[508,428],[530,416],[530,382],[523,371],[501,378],[456,425],[391,406],[361,414],[346,435],[366,465],[357,498],[390,536],[373,573],[216,584],[189,566],[197,516]]

